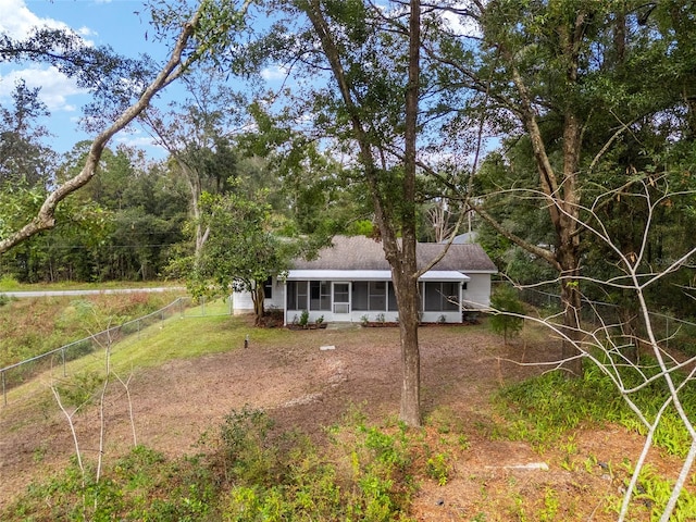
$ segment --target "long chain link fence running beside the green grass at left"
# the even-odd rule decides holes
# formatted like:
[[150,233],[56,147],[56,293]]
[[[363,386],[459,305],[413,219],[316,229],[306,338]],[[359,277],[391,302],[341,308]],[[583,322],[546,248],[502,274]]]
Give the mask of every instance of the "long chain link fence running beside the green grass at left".
[[231,314],[232,299],[208,300],[201,298],[198,302],[192,302],[190,297],[179,297],[166,307],[152,313],[0,369],[3,405],[7,406],[8,403],[8,391],[10,389],[26,383],[41,372],[58,369],[65,377],[66,365],[70,361],[94,353],[107,346],[113,347],[115,343],[124,337],[137,335],[139,338],[140,332],[172,316],[184,319]]

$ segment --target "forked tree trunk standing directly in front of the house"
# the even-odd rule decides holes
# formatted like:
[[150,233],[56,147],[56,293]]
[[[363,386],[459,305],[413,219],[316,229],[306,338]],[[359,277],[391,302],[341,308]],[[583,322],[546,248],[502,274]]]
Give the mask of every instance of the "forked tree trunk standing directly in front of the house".
[[[341,98],[350,115],[355,139],[360,149],[359,158],[374,204],[375,222],[380,227],[385,257],[391,268],[395,294],[399,308],[399,330],[401,340],[401,362],[403,380],[401,386],[400,418],[410,426],[421,425],[420,403],[420,352],[418,346],[418,266],[415,259],[415,146],[418,135],[418,108],[420,83],[420,44],[421,5],[418,0],[410,1],[409,15],[409,71],[405,89],[405,160],[403,181],[400,203],[395,204],[381,188],[381,176],[389,175],[380,170],[375,154],[378,146],[374,137],[369,136],[363,124],[359,101],[353,98],[350,77],[346,75],[341,53],[336,46],[332,26],[322,12],[319,0],[311,0],[302,7],[309,16],[322,48],[331,65]],[[384,162],[383,162],[384,166]],[[401,236],[399,244],[398,236]]]

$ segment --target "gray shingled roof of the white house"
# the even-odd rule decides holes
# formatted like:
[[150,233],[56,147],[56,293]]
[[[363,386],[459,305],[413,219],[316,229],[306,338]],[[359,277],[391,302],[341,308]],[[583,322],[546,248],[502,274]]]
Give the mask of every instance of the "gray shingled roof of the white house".
[[[382,243],[364,236],[336,236],[334,246],[323,248],[313,261],[296,260],[297,270],[389,270],[384,258]],[[424,266],[439,254],[444,245],[419,243],[418,265]],[[434,270],[456,270],[459,272],[497,272],[496,265],[481,248],[481,245],[451,245],[447,254]]]

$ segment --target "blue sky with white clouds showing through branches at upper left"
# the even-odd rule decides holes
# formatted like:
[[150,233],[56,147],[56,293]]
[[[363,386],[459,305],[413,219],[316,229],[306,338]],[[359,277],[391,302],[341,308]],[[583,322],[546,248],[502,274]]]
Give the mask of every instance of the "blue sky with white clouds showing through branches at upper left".
[[[0,0],[0,33],[21,38],[36,25],[69,27],[94,46],[111,46],[120,54],[137,58],[142,53],[162,58],[166,51],[162,45],[146,39],[149,29],[148,15],[134,14],[145,11],[140,0]],[[151,32],[150,32],[151,33]],[[22,77],[29,87],[41,87],[41,99],[51,111],[46,125],[54,135],[50,146],[58,152],[72,149],[91,135],[78,129],[80,108],[89,100],[74,82],[52,67],[36,64],[0,64],[0,104],[11,103],[10,94],[15,80]],[[172,86],[174,87],[174,86]],[[149,137],[141,130],[120,133],[110,144],[127,142],[149,149],[151,156],[162,156],[148,147]]]

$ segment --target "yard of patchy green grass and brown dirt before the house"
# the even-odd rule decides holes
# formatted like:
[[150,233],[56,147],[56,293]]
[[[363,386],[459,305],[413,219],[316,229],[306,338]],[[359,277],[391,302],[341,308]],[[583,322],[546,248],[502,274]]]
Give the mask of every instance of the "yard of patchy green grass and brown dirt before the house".
[[[83,485],[74,463],[65,465],[64,444],[58,471],[41,471],[0,518],[616,520],[618,492],[642,438],[619,424],[607,408],[616,391],[592,375],[572,386],[552,376],[518,384],[531,370],[505,361],[545,353],[529,331],[525,325],[517,346],[504,348],[485,325],[423,328],[425,425],[406,430],[394,413],[396,328],[288,332],[253,328],[244,316],[171,318],[113,347],[116,370],[136,374],[136,423],[152,447],[109,455],[100,481],[88,467]],[[247,335],[250,349],[243,350]],[[323,345],[336,349],[320,351]],[[102,356],[69,363],[65,384],[74,386],[64,388],[66,398],[87,400]],[[498,383],[508,386],[496,409],[487,400]],[[49,450],[39,443],[13,448],[48,461],[66,427],[52,414],[50,394],[35,386],[42,406],[27,402],[21,414],[5,415],[3,435],[10,436],[2,440],[21,427],[42,433]],[[123,402],[123,389],[115,388],[114,402]],[[363,406],[336,413],[352,401]],[[116,424],[124,413],[110,413],[115,439],[123,436]],[[98,417],[94,407],[80,415],[82,426]],[[164,444],[163,434],[172,432],[199,442]],[[663,506],[676,461],[659,453],[659,465],[642,477],[631,520],[651,520]],[[508,467],[539,461],[547,471]],[[694,487],[691,481],[675,517],[688,520]]]

